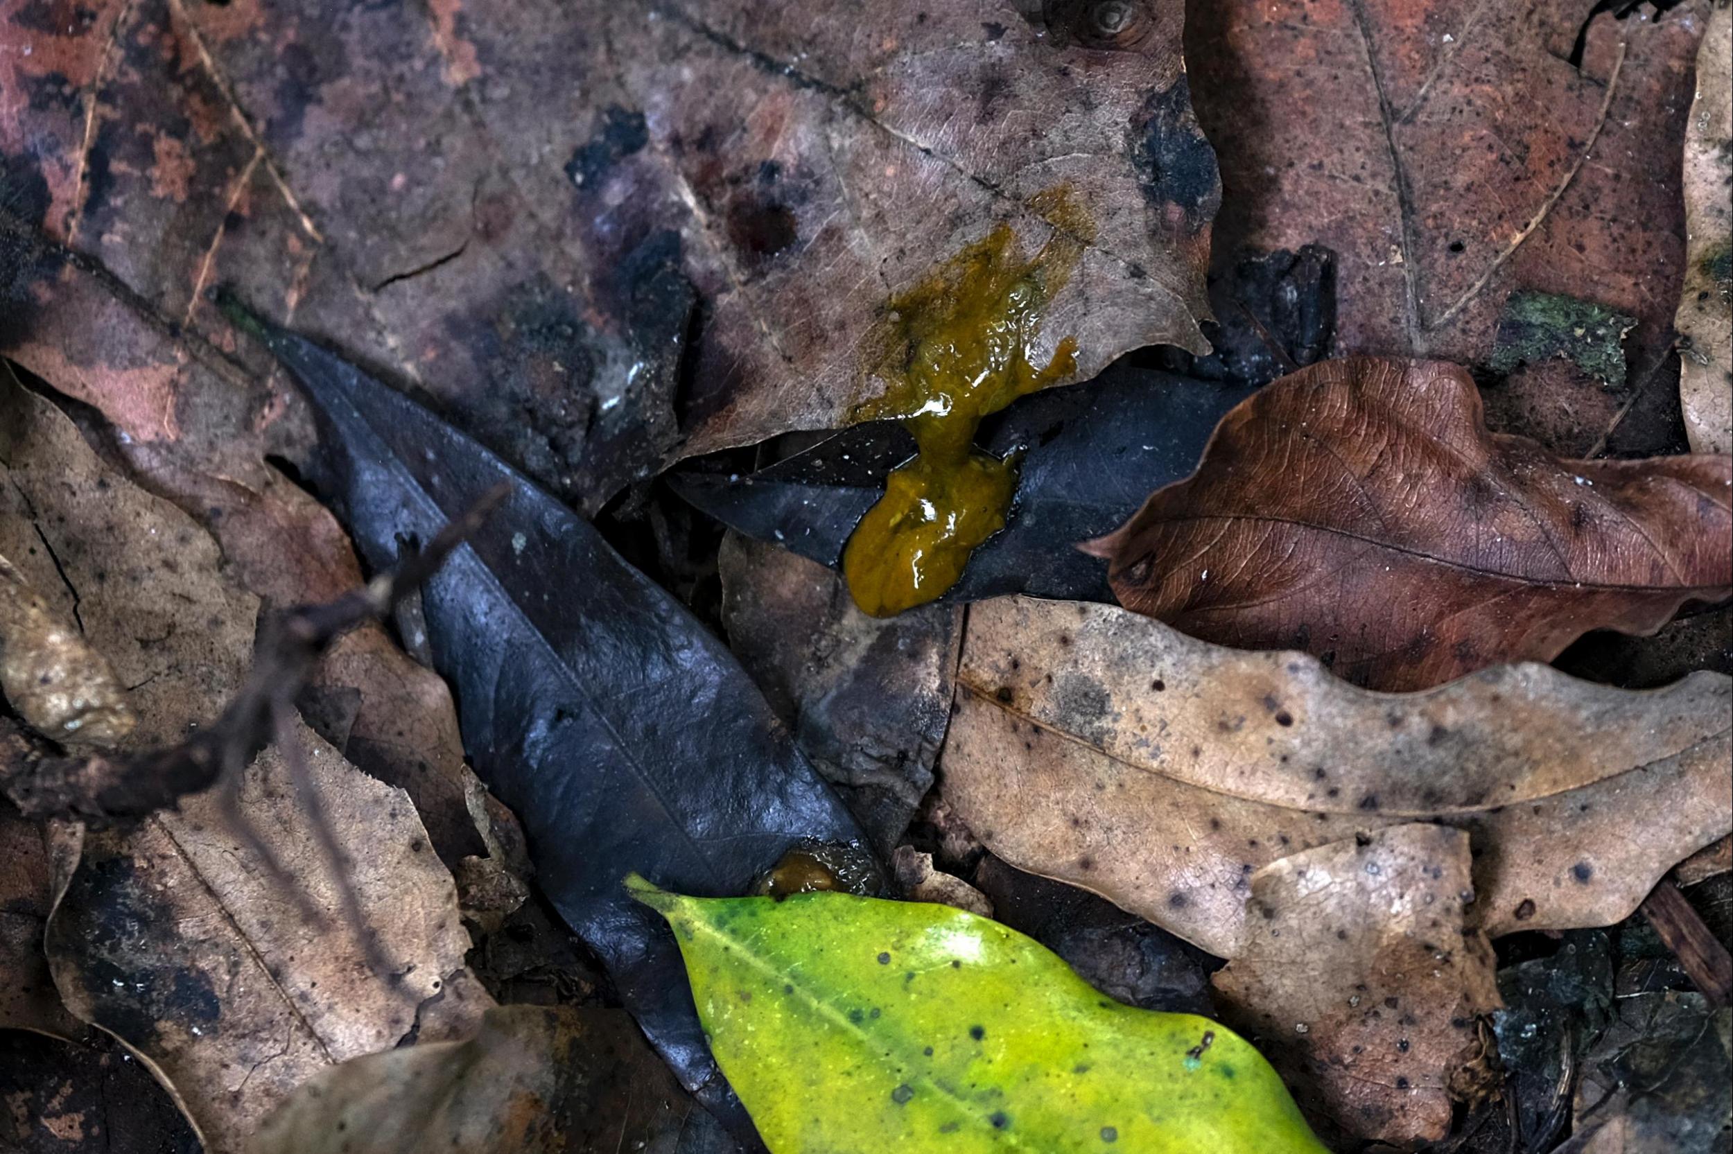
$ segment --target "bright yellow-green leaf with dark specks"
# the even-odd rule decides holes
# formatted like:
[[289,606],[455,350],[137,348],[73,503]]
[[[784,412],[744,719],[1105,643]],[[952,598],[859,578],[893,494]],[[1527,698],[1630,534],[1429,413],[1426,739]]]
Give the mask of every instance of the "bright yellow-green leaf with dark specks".
[[1104,998],[998,922],[626,887],[674,927],[716,1060],[775,1154],[1327,1154],[1248,1041]]

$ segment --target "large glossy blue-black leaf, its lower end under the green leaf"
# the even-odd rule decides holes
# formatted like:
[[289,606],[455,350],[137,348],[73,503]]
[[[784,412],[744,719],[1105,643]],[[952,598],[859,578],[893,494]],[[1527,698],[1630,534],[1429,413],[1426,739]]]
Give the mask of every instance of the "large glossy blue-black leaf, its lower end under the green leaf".
[[310,341],[262,340],[321,412],[321,483],[376,570],[506,487],[423,586],[428,648],[477,771],[523,821],[539,887],[681,1083],[730,1111],[674,943],[619,873],[743,892],[799,839],[858,842],[853,818],[721,641],[587,522]]

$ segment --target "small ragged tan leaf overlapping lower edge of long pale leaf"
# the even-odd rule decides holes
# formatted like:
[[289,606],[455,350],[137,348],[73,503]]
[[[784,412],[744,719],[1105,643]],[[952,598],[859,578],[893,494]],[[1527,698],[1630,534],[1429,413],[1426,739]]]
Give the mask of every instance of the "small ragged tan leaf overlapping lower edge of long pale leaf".
[[1213,979],[1222,1015],[1353,1138],[1445,1137],[1451,1076],[1499,1007],[1492,946],[1466,917],[1468,840],[1393,825],[1251,875],[1246,939]]

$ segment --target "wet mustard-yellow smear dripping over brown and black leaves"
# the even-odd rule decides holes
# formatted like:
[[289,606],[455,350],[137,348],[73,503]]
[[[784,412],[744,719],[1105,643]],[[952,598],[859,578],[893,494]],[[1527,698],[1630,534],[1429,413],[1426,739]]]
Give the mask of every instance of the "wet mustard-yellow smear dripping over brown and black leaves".
[[1031,206],[1054,225],[1031,260],[1000,224],[891,298],[868,343],[868,373],[889,388],[851,419],[901,418],[917,445],[842,551],[849,593],[872,617],[939,598],[974,548],[1005,527],[1017,464],[976,449],[976,428],[1017,397],[1076,373],[1074,338],[1061,340],[1040,369],[1029,348],[1094,225],[1064,187],[1038,194]]

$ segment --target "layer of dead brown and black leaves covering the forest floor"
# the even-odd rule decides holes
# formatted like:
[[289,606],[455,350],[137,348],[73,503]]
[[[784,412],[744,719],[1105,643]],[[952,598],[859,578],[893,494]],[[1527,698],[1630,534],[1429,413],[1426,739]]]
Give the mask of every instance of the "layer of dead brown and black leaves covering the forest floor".
[[[639,868],[686,894],[785,896],[766,924],[851,884],[991,911],[1107,1007],[1237,1026],[1333,1149],[1719,1149],[1726,5],[1191,7],[1184,29],[1178,3],[1118,0],[847,23],[709,0],[513,21],[5,9],[29,52],[0,54],[0,350],[78,428],[21,393],[36,431],[7,430],[26,483],[5,492],[0,556],[26,584],[0,586],[0,657],[35,660],[40,684],[106,664],[68,684],[104,686],[97,716],[132,710],[139,733],[97,721],[85,733],[120,745],[80,747],[61,723],[80,707],[5,683],[3,792],[90,828],[0,802],[0,1026],[120,1034],[170,1088],[154,1116],[173,1102],[213,1151],[272,1111],[279,1144],[341,1144],[338,1100],[341,1133],[381,1142],[504,1126],[530,1149],[802,1149],[782,1119],[813,1095],[766,1099],[698,1033],[672,941],[619,889]],[[969,326],[917,333],[892,305],[983,244],[1007,291],[1048,298],[1017,341],[1059,388],[946,442],[1012,478],[1005,528],[941,605],[870,619],[820,567],[842,567],[912,442],[882,421],[766,438],[891,416],[872,399],[934,336],[965,350]],[[255,343],[215,284],[341,359],[284,329]],[[1400,364],[1315,366],[1343,353],[1466,373],[1374,369],[1376,404],[1341,405],[1345,381]],[[1444,444],[1485,468],[1378,475]],[[1700,456],[1665,456],[1686,445]],[[1308,461],[1388,489],[1381,523]],[[508,506],[418,589],[432,565],[412,558],[489,477]],[[80,501],[95,478],[120,496]],[[1492,504],[1445,508],[1487,478]],[[1109,587],[1074,549],[1180,494],[1211,516],[1227,499],[1229,520],[1293,502],[1296,522],[1260,542],[1187,539],[1192,511],[1140,518],[1170,575],[1146,608],[1196,639],[1107,603],[1149,589],[1128,565]],[[173,537],[140,548],[140,527]],[[1551,554],[1572,580],[1535,563]],[[274,622],[406,568],[371,601],[392,629],[321,632],[274,664]],[[1612,587],[1577,589],[1579,570]],[[1232,582],[1248,596],[1220,620],[1194,612]],[[1061,601],[988,601],[1003,594]],[[594,686],[575,710],[513,605],[532,632],[567,631],[558,660]],[[19,650],[19,631],[54,641]],[[645,669],[646,652],[672,657]],[[1522,664],[1553,658],[1612,684]],[[236,729],[236,709],[279,667],[300,721],[265,729],[289,740],[246,775],[151,776],[236,733],[250,761],[272,733]],[[693,672],[659,681],[671,667]],[[624,738],[593,742],[598,719]],[[615,788],[633,759],[665,764],[650,776],[672,792]],[[225,801],[263,830],[251,844]],[[683,825],[705,868],[669,853]],[[277,868],[244,865],[260,847]],[[177,917],[203,929],[165,932]],[[823,946],[830,922],[790,946]],[[1593,925],[1612,929],[1567,929]],[[404,962],[383,981],[381,956]],[[615,1000],[636,1026],[596,1007]],[[697,1014],[769,1008],[749,1005],[700,996]],[[1194,1041],[1199,1064],[1227,1036]],[[113,1066],[33,1054],[87,1085]],[[821,1062],[794,1073],[847,1097]],[[14,1118],[28,1100],[55,1135],[107,1140],[45,1079],[17,1085],[35,1097]],[[1005,1126],[988,1112],[983,1133]]]

